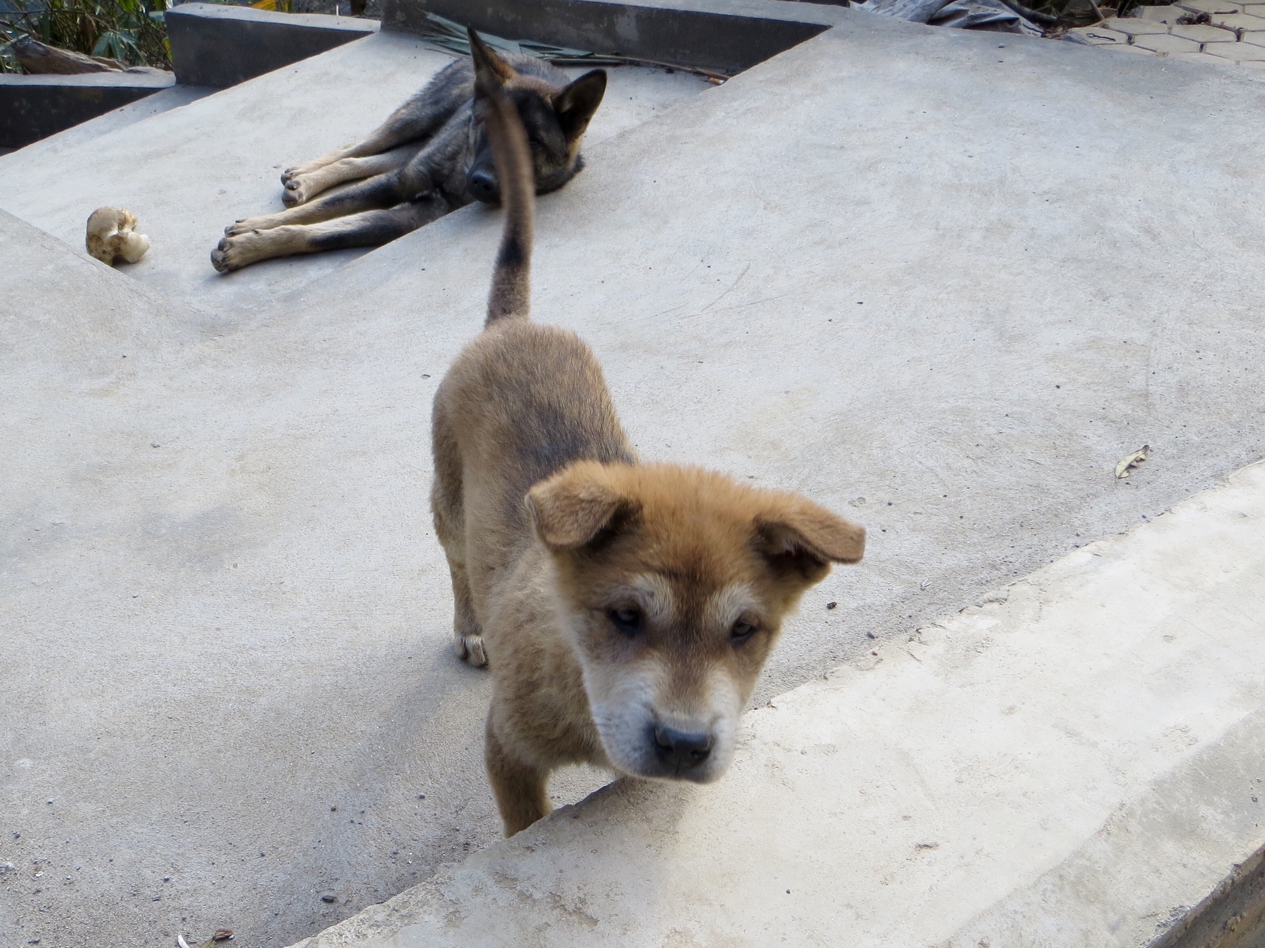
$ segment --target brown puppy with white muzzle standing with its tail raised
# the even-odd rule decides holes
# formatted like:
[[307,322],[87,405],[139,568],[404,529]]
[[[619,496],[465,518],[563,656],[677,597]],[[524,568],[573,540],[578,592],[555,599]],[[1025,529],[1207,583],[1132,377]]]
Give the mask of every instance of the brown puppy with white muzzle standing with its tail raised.
[[716,780],[783,616],[865,531],[791,493],[641,464],[574,334],[529,320],[533,179],[512,105],[486,123],[505,234],[484,331],[435,394],[435,528],[457,651],[492,671],[487,770],[506,836],[587,761]]

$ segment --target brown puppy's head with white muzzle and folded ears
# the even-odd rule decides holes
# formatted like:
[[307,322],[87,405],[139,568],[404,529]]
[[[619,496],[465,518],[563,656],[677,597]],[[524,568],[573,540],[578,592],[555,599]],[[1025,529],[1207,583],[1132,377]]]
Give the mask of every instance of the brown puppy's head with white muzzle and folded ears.
[[611,763],[716,780],[782,618],[865,531],[693,468],[581,461],[531,488],[557,608]]

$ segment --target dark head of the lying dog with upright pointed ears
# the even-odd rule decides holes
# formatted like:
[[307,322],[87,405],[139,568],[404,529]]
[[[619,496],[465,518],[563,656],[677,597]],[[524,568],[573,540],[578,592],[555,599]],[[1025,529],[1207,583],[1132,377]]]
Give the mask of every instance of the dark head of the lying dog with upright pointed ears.
[[553,86],[535,76],[520,75],[469,30],[474,62],[474,121],[471,124],[474,161],[466,173],[466,190],[477,201],[497,204],[492,145],[483,128],[483,110],[493,92],[505,95],[519,110],[528,133],[536,193],[555,191],[583,167],[579,145],[606,92],[606,72],[593,70],[567,86]]

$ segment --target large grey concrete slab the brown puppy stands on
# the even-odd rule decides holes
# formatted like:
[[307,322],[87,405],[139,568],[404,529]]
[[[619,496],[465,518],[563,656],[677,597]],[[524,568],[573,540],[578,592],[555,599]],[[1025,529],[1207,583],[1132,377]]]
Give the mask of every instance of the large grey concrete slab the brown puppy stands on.
[[[788,624],[760,703],[1265,456],[1265,90],[840,15],[592,144],[539,204],[536,313],[591,340],[645,456],[799,489],[870,531],[865,564]],[[314,85],[254,82],[253,101],[244,83],[132,126],[181,119],[145,145],[161,187],[110,135],[92,154],[133,200],[228,215],[204,210],[233,174],[207,158],[216,129],[271,162],[250,123],[287,94],[301,112]],[[328,147],[304,134],[293,157]],[[32,187],[90,204],[96,178],[65,162]],[[426,423],[482,322],[498,228],[467,209],[336,273],[301,262],[288,293],[244,270],[230,296],[168,293],[4,219],[0,862],[44,871],[0,882],[20,940],[157,948],[228,925],[242,948],[286,944],[497,838]],[[151,257],[176,273],[191,253]],[[1117,482],[1141,444],[1151,460]]]

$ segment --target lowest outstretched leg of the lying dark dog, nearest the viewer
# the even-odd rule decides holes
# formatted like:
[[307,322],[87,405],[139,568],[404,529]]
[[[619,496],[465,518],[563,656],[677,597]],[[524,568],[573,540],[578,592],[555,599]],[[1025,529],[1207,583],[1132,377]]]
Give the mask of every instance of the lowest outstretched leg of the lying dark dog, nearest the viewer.
[[211,252],[211,265],[220,273],[239,270],[259,260],[350,246],[381,246],[452,210],[439,196],[430,196],[378,211],[336,217],[323,224],[283,225],[226,236]]

